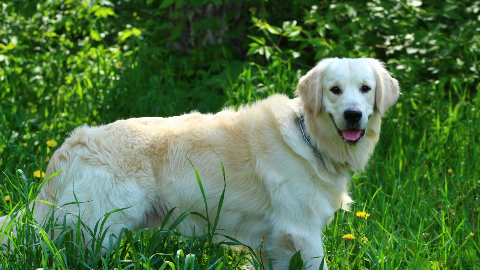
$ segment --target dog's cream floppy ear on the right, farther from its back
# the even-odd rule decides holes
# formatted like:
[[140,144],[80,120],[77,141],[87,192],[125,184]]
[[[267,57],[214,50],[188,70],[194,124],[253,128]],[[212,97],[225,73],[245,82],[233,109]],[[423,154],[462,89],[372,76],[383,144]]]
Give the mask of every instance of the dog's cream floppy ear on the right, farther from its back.
[[373,59],[373,61],[377,73],[375,101],[378,112],[380,112],[380,115],[384,115],[385,111],[396,103],[400,95],[400,86],[398,86],[398,81],[390,76],[382,62],[376,59]]

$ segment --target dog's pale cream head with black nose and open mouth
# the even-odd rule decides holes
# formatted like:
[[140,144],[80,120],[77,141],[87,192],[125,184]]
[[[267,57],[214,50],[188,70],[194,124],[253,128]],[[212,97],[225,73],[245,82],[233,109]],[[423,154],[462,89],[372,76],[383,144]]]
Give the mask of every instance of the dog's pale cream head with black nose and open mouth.
[[339,138],[354,146],[362,141],[369,118],[395,104],[400,89],[381,61],[328,58],[300,78],[296,93],[304,110],[330,119]]

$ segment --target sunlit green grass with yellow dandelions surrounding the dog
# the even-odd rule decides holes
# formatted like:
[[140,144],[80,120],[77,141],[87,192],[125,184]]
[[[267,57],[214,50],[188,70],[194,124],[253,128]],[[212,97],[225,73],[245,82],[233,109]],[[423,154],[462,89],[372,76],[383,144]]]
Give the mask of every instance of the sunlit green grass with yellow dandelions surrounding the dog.
[[[223,87],[224,100],[244,102],[274,92],[292,92],[296,72],[285,67],[263,67],[270,69],[269,76],[252,76],[257,68],[246,65],[229,84],[218,82],[218,87]],[[131,72],[141,71],[134,68]],[[1,85],[2,99],[9,100],[1,110],[3,214],[22,208],[35,197],[43,180],[37,177],[41,176],[38,173],[35,176],[35,171],[45,171],[48,157],[56,148],[48,146],[47,141],[54,140],[60,145],[75,125],[102,120],[101,112],[91,109],[96,102],[94,98],[80,98],[72,106],[69,101],[74,93],[50,94],[56,99],[51,105],[46,102],[51,100],[46,98],[49,96],[19,97],[16,89],[8,89],[14,85],[7,84],[8,80],[15,77],[7,77]],[[260,82],[273,87],[260,89]],[[199,87],[204,87],[201,82]],[[479,87],[460,86],[450,80],[403,89],[404,96],[384,118],[380,143],[369,167],[365,172],[353,172],[354,211],[338,211],[332,225],[324,231],[331,269],[439,269],[440,261],[444,269],[479,268],[477,164],[480,160],[475,126],[480,106]],[[104,93],[112,88],[106,87]],[[156,91],[148,93],[153,95]],[[84,95],[95,97],[99,92],[94,86]],[[128,99],[128,94],[125,95]],[[109,106],[121,108],[121,102]],[[362,219],[355,211],[366,211],[370,216]],[[97,231],[100,225],[101,221]],[[1,254],[4,269],[89,269],[85,262],[92,258],[96,259],[97,269],[207,269],[218,259],[223,267],[238,268],[243,256],[242,252],[205,244],[209,243],[205,241],[208,236],[193,239],[174,236],[170,232],[172,227],[160,231],[126,231],[127,238],[120,246],[113,247],[106,258],[97,258],[99,249],[95,246],[79,255],[82,241],[72,233],[75,228],[56,228],[65,233],[61,239],[50,241],[47,239],[51,224],[44,227],[45,234],[40,236],[32,233],[37,229],[35,222],[27,221],[22,226],[24,235],[13,241],[13,251]],[[355,239],[342,238],[348,233]],[[194,264],[184,264],[182,254],[195,255]],[[165,264],[164,260],[171,264]],[[221,269],[219,265],[213,268]]]

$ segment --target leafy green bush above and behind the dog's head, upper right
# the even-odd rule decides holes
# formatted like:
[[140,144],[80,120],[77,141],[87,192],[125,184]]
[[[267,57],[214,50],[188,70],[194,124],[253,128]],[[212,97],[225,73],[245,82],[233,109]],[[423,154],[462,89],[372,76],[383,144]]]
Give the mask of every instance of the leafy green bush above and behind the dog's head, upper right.
[[[248,54],[290,56],[299,66],[324,57],[375,57],[395,68],[407,91],[436,80],[479,81],[480,1],[321,1],[293,8],[278,2],[279,10],[252,8],[260,32],[252,34]],[[270,21],[274,16],[280,20]]]

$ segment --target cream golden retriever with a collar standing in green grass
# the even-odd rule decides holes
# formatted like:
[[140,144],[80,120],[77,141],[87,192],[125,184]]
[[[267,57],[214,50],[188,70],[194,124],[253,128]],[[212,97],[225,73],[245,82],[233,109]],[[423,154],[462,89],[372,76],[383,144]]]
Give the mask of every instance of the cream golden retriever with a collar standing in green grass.
[[[219,156],[226,189],[218,229],[252,247],[264,237],[263,260],[275,270],[288,269],[299,250],[307,267],[319,269],[322,229],[336,210],[349,209],[349,170],[365,168],[381,117],[399,94],[381,61],[328,58],[300,78],[293,99],[275,94],[216,114],[81,126],[53,154],[46,176],[66,169],[37,200],[64,205],[56,210],[60,220],[80,214],[91,228],[106,213],[130,207],[110,215],[108,233],[158,228],[174,207],[206,214],[193,164],[215,216],[224,188]],[[84,202],[80,209],[65,205],[76,200]],[[34,216],[42,221],[49,211],[37,202]],[[67,220],[74,223],[73,216]],[[205,224],[185,219],[179,230],[202,232]]]

